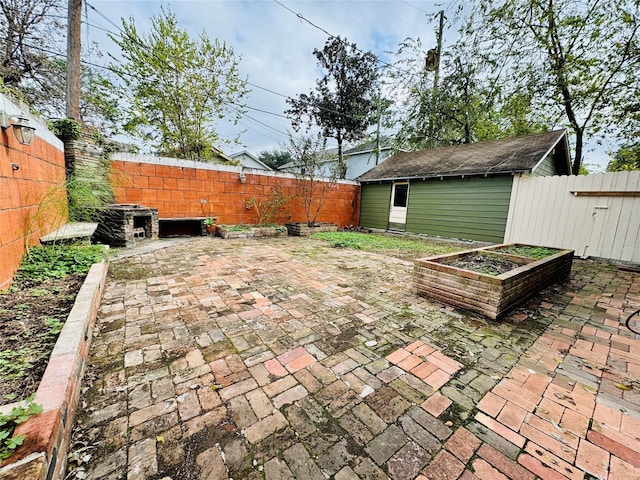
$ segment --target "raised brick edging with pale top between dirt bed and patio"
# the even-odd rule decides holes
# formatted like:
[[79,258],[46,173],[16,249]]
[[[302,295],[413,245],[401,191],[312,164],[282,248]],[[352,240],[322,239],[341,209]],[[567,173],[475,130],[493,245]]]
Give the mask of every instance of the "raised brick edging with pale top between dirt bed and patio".
[[24,444],[0,469],[0,480],[64,477],[80,384],[107,277],[108,262],[94,264],[51,352],[36,392],[42,413],[16,428]]

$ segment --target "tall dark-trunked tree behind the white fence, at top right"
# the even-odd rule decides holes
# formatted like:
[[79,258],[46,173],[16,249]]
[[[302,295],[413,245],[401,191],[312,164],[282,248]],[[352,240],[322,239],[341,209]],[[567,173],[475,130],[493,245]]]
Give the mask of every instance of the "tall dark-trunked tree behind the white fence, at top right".
[[533,109],[584,142],[616,133],[615,112],[637,90],[637,0],[477,0],[462,42],[495,66],[505,90],[533,92]]

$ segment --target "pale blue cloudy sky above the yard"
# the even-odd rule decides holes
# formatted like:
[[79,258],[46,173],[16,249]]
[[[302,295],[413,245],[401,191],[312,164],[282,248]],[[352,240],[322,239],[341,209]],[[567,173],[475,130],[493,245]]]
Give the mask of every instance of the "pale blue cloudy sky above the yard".
[[[361,50],[370,50],[391,62],[391,52],[408,37],[420,38],[425,50],[436,46],[436,14],[453,19],[461,0],[86,0],[88,22],[83,41],[97,42],[103,52],[117,56],[115,44],[103,29],[116,31],[121,18],[133,18],[139,33],[148,32],[151,17],[168,7],[180,28],[192,38],[205,32],[233,48],[240,57],[241,74],[250,83],[245,98],[247,114],[238,125],[216,124],[226,138],[240,137],[241,145],[225,145],[233,154],[242,150],[258,156],[280,149],[291,122],[284,117],[286,97],[297,97],[315,87],[320,77],[315,48],[322,49],[328,34],[347,38]],[[447,26],[443,48],[456,39]],[[106,59],[91,58],[94,63]],[[587,152],[586,164],[606,165],[604,147]],[[602,167],[600,167],[602,168]]]

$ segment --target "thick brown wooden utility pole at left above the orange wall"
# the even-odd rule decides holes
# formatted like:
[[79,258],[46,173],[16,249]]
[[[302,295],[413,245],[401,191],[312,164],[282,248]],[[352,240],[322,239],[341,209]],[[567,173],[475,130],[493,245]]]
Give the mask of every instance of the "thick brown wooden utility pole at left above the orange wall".
[[80,38],[82,0],[67,7],[67,118],[80,120]]

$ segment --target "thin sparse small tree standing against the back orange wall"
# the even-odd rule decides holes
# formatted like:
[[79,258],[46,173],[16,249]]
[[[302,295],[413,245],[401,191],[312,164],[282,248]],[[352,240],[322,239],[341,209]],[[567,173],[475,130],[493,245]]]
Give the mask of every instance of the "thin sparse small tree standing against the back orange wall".
[[295,174],[298,180],[298,195],[302,198],[309,227],[316,224],[320,210],[336,183],[335,174],[328,178],[322,174],[323,164],[331,160],[324,146],[325,139],[320,134],[294,137],[291,133],[283,146],[298,168]]

